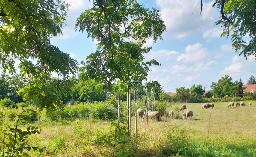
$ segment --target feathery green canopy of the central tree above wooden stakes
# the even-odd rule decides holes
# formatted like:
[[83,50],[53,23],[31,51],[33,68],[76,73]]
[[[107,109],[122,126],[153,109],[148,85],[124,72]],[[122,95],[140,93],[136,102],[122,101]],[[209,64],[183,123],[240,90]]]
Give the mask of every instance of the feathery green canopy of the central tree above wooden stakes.
[[151,49],[143,47],[146,39],[156,42],[166,31],[155,8],[149,10],[134,0],[94,0],[93,7],[79,16],[76,28],[98,41],[83,72],[107,87],[116,79],[139,83],[146,79],[149,66],[160,65],[154,59],[143,61],[143,54]]

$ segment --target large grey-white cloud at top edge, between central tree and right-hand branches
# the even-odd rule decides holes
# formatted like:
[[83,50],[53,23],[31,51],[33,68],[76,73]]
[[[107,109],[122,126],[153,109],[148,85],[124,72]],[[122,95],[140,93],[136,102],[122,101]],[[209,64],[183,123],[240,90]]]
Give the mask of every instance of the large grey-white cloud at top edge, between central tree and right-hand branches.
[[187,39],[208,26],[212,27],[218,15],[212,7],[213,1],[203,3],[200,16],[201,1],[198,0],[156,0],[161,8],[161,17],[168,30],[165,37]]

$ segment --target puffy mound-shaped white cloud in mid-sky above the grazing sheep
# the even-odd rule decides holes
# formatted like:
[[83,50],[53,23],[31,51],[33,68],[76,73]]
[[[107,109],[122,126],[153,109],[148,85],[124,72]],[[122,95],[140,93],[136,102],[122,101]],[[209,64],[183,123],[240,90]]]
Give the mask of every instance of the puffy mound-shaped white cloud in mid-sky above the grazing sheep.
[[171,74],[209,69],[215,61],[209,57],[209,52],[202,44],[196,43],[185,48],[185,53],[177,57],[177,64],[172,66]]

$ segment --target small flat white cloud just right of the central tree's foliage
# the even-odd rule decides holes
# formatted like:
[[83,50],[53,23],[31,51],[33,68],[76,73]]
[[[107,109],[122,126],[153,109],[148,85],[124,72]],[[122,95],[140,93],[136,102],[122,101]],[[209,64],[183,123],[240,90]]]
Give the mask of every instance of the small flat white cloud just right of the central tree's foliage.
[[179,54],[177,51],[169,51],[169,50],[160,50],[160,51],[151,51],[144,55],[145,60],[149,61],[152,59],[157,60],[158,62],[161,61],[168,61]]

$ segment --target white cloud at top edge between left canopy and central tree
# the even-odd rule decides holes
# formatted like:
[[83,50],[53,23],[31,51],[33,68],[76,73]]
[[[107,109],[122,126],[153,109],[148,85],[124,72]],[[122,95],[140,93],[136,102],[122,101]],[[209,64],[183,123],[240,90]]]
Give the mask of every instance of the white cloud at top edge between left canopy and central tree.
[[64,27],[62,34],[58,39],[67,39],[67,38],[74,38],[75,36],[79,35],[78,31],[75,31],[75,24],[77,18],[80,16],[82,12],[86,9],[92,7],[92,2],[84,1],[84,0],[65,0],[65,3],[71,5],[68,11],[68,17],[66,17],[66,26]]

